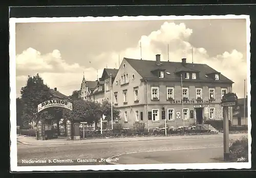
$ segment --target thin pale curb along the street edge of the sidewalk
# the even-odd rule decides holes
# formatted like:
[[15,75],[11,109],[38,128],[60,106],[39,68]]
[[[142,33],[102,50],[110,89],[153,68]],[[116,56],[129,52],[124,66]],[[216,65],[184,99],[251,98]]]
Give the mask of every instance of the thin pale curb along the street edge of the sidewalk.
[[114,143],[114,142],[134,142],[134,141],[154,141],[154,140],[179,140],[179,139],[197,139],[197,138],[220,138],[220,136],[215,137],[180,137],[180,138],[161,138],[161,139],[136,139],[136,140],[112,140],[112,141],[92,141],[92,142],[67,142],[67,143],[26,143],[19,141],[17,142],[25,144],[25,145],[69,145],[69,144],[88,144],[88,143]]

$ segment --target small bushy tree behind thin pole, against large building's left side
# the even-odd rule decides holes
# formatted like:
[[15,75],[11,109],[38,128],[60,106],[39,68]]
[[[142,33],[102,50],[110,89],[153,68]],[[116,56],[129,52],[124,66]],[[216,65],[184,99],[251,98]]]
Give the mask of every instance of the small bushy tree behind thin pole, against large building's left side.
[[[100,106],[100,111],[106,116],[106,120],[111,120],[111,103],[108,100],[103,100]],[[113,106],[113,120],[120,119],[120,111]]]

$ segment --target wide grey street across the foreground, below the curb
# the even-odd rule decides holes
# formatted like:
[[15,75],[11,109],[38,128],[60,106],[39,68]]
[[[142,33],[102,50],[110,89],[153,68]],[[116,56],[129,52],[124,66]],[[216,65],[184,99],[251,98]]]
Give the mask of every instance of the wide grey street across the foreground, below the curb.
[[[240,137],[230,135],[230,139],[239,139]],[[68,145],[25,145],[17,143],[17,149],[18,166],[102,165],[109,163],[105,160],[100,161],[101,159],[117,155],[122,155],[118,158],[119,163],[117,161],[117,164],[143,164],[145,159],[147,159],[147,163],[223,162],[222,137]],[[129,154],[132,152],[138,153]],[[55,162],[57,160],[59,163],[49,163],[48,160],[53,161],[54,159]],[[83,160],[83,162],[78,162],[78,159]],[[47,162],[22,164],[22,161],[28,160],[45,160]],[[61,163],[58,160],[72,160],[72,163],[69,161]]]

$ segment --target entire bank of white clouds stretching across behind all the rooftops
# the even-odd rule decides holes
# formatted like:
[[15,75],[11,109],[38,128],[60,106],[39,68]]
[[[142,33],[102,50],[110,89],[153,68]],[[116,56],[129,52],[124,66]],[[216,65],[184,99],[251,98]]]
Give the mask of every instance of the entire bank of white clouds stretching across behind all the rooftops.
[[[92,56],[89,60],[92,62],[91,67],[80,66],[78,63],[68,64],[62,59],[61,52],[57,49],[42,55],[36,49],[28,48],[16,57],[17,75],[20,75],[17,76],[17,80],[26,82],[27,78],[24,75],[38,72],[51,88],[58,87],[60,92],[70,95],[73,90],[80,88],[83,71],[87,80],[96,80],[97,69],[100,78],[106,65],[109,68],[118,67],[119,55],[120,62],[123,57],[140,59],[141,53],[142,59],[145,60],[155,60],[155,55],[161,54],[161,60],[167,61],[169,48],[170,61],[180,62],[181,58],[185,57],[187,62],[191,62],[193,48],[194,63],[207,64],[224,74],[234,82],[233,91],[239,97],[243,97],[244,88],[241,86],[244,85],[244,79],[246,79],[247,67],[242,53],[233,49],[229,52],[223,51],[222,54],[215,57],[209,57],[206,48],[195,47],[189,42],[192,35],[193,29],[187,28],[185,23],[164,22],[158,30],[142,35],[134,46],[121,51],[112,50]],[[81,59],[74,59],[74,61],[79,60]]]

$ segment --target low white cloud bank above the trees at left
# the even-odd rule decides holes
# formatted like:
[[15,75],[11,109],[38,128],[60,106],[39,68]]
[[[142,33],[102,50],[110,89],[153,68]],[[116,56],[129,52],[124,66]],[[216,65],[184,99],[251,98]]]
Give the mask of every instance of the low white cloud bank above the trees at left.
[[[39,73],[40,77],[50,87],[57,87],[63,94],[70,95],[80,89],[83,72],[87,80],[96,80],[96,69],[80,66],[78,63],[68,64],[61,59],[59,50],[42,55],[36,49],[28,48],[16,56],[16,94],[26,85],[28,75]],[[99,74],[103,70],[99,70]],[[101,73],[100,73],[101,72]]]

